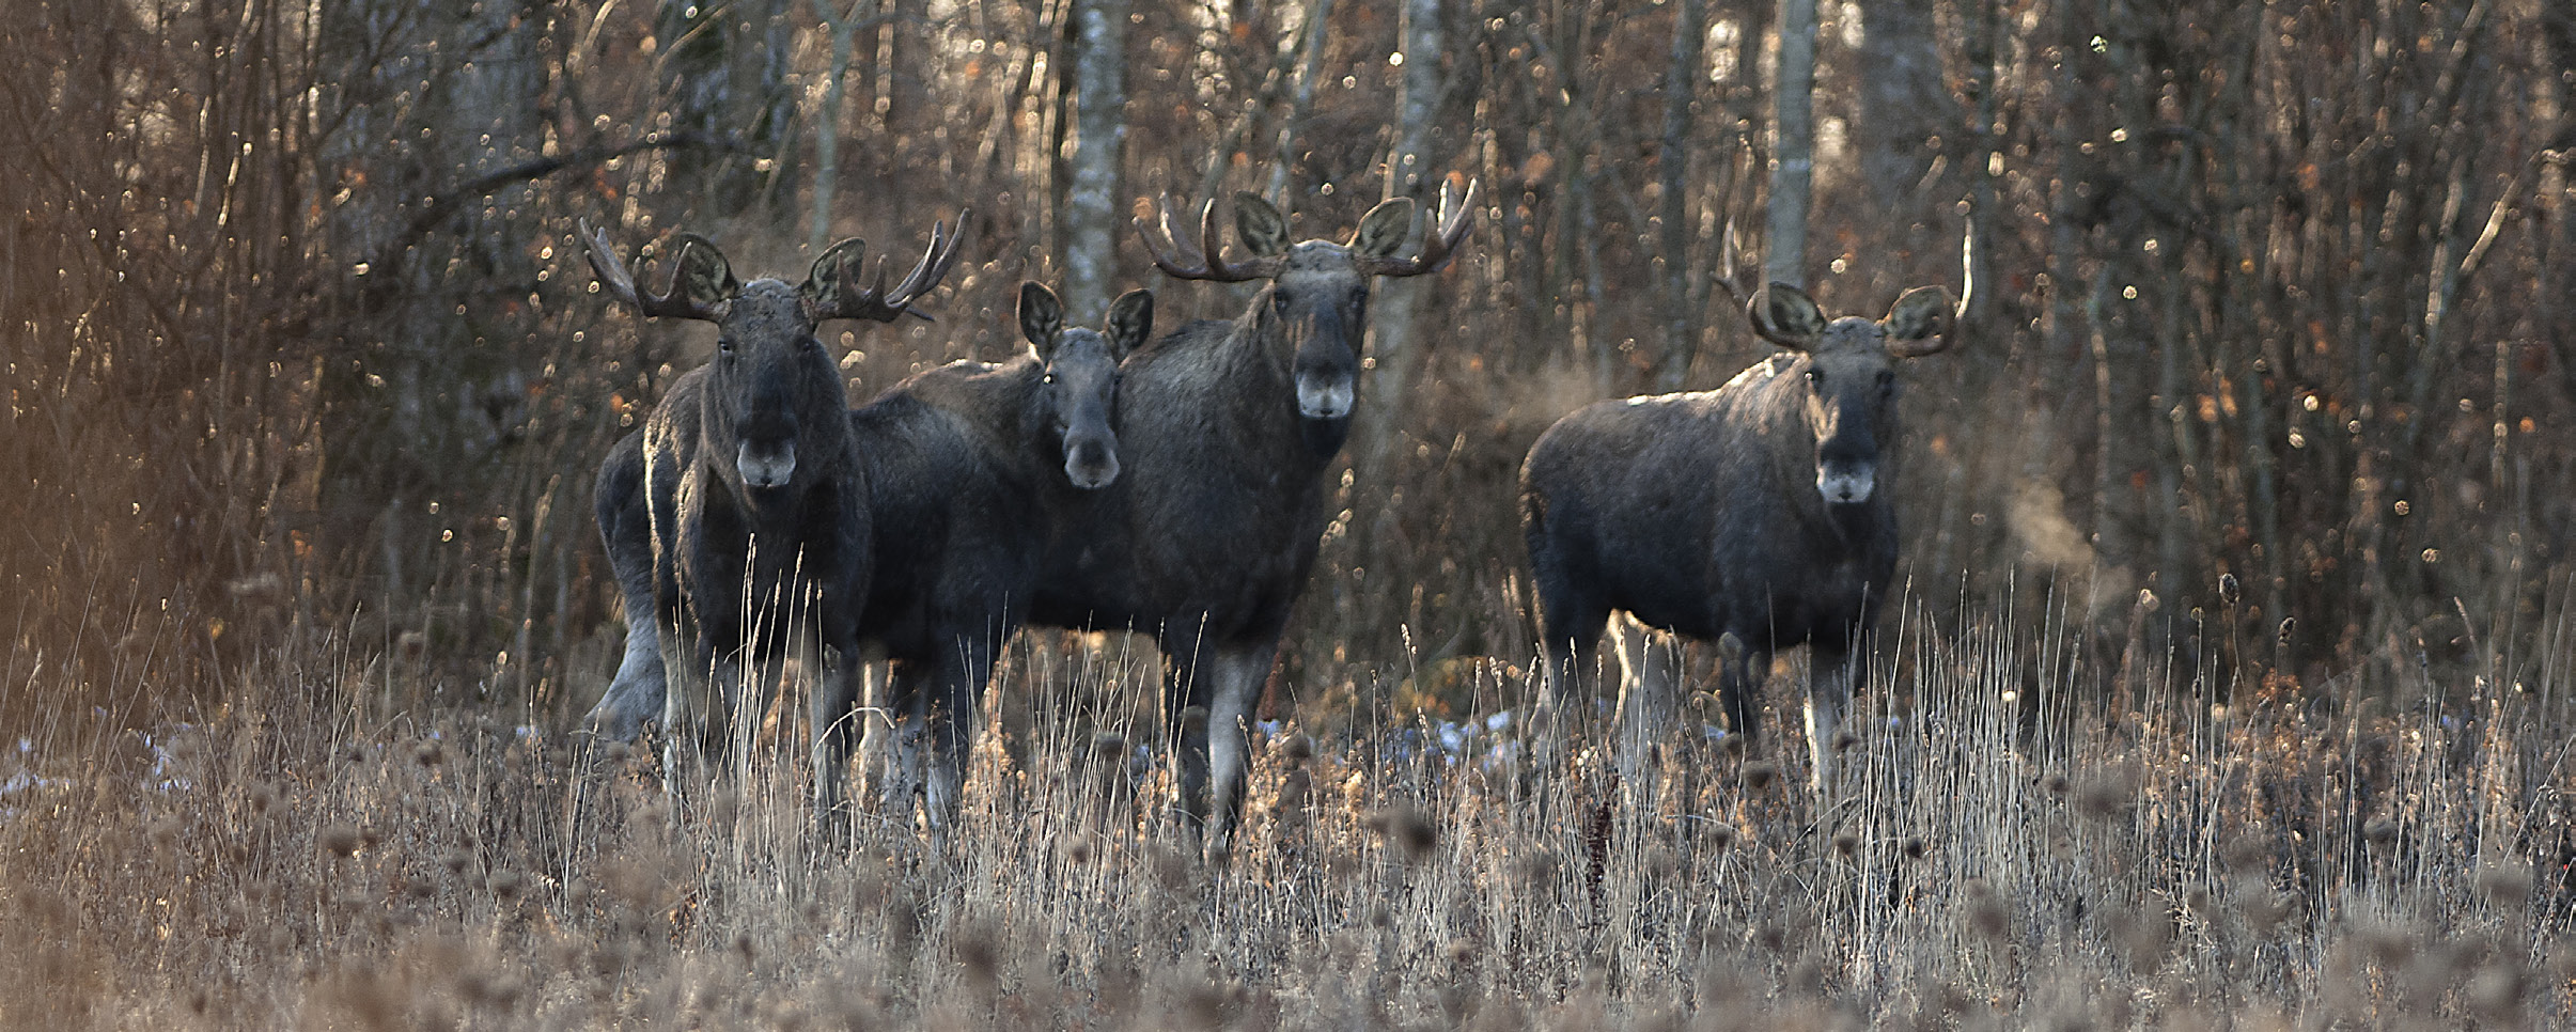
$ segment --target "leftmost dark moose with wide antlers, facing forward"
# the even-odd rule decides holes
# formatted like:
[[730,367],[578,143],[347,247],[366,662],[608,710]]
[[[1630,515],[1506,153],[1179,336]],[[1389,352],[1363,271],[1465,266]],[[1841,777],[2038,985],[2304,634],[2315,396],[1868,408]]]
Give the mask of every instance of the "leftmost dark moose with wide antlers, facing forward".
[[[659,710],[662,769],[677,785],[683,764],[724,749],[729,718],[747,723],[750,690],[768,682],[760,669],[791,646],[832,654],[817,708],[840,715],[837,700],[853,695],[873,528],[840,365],[817,327],[922,317],[912,301],[948,275],[958,242],[935,224],[922,260],[889,291],[884,263],[863,275],[855,237],[788,286],[742,283],[716,244],[677,234],[662,293],[636,291],[605,232],[585,226],[585,242],[613,299],[716,324],[716,358],[683,373],[644,427],[611,448],[595,499],[626,597],[626,656],[590,723],[634,739]],[[739,777],[747,749],[732,751]]]

